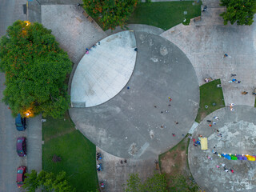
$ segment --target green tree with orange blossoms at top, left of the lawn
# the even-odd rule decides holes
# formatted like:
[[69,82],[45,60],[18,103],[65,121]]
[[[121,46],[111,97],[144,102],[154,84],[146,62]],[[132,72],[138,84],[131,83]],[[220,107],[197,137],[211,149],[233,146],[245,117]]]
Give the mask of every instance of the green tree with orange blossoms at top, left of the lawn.
[[104,30],[125,26],[138,0],[83,0],[84,9],[93,18],[102,22]]

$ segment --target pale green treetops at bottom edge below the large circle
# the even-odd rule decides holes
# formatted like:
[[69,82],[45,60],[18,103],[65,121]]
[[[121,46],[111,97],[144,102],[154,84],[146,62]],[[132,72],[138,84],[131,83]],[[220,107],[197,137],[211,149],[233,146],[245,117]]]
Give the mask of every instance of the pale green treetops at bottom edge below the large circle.
[[166,192],[166,178],[163,174],[154,174],[152,177],[147,178],[146,182],[142,183],[138,174],[130,174],[127,184],[122,185],[123,191],[130,192]]

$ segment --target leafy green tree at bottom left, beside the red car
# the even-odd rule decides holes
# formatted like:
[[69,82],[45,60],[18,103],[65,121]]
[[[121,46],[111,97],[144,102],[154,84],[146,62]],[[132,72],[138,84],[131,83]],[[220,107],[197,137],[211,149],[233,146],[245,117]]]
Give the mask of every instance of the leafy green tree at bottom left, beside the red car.
[[66,173],[64,171],[54,175],[42,170],[39,174],[32,170],[31,174],[26,173],[24,185],[22,186],[29,192],[41,189],[44,192],[74,192],[75,190],[69,186],[66,181]]

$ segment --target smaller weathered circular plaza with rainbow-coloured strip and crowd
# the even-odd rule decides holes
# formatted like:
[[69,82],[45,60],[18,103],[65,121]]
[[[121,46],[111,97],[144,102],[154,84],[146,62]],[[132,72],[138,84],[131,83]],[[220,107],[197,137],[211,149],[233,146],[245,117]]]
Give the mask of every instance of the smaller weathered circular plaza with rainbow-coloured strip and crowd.
[[[216,120],[214,117],[219,119]],[[212,150],[220,154],[256,154],[256,109],[251,106],[225,107],[208,115],[198,126],[193,138],[198,140],[198,134],[208,138],[208,150],[195,147],[192,142],[189,146],[189,164],[194,180],[209,192],[255,191],[256,162],[227,160],[213,154]],[[211,120],[216,126],[209,126]],[[222,137],[218,137],[219,130]],[[215,146],[215,148],[214,148]],[[212,160],[208,159],[210,156]],[[224,171],[222,163],[231,173]],[[220,166],[218,168],[217,166]]]

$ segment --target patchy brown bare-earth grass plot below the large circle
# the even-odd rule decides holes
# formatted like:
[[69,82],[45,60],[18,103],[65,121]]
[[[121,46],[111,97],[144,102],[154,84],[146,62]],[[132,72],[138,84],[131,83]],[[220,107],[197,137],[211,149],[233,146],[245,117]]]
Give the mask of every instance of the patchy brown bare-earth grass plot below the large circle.
[[[198,191],[198,186],[190,181],[190,179],[192,181],[194,179],[190,174],[187,159],[189,143],[190,139],[188,138],[188,135],[186,135],[186,137],[172,149],[159,155],[159,165],[161,173],[166,175],[168,191]],[[184,182],[187,183],[186,185],[183,185],[184,183],[182,184],[182,182],[173,182],[173,178],[180,179],[180,175],[184,178]]]

